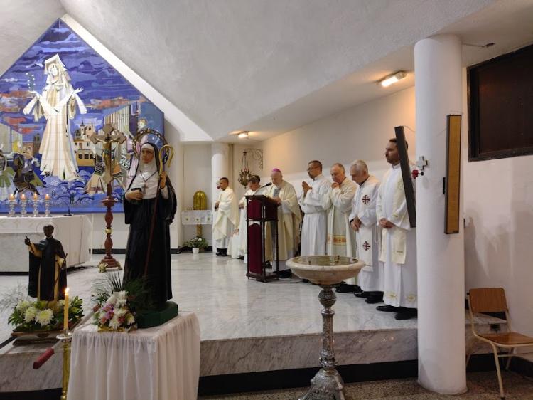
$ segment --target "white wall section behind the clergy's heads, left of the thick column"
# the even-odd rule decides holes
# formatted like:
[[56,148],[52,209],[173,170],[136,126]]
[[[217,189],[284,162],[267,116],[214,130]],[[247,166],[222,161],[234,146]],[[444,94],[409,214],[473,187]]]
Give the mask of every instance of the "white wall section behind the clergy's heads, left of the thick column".
[[[263,142],[264,174],[281,169],[284,179],[301,191],[301,180],[307,177],[307,163],[318,159],[324,174],[341,162],[348,169],[355,159],[364,159],[371,174],[379,179],[388,168],[384,148],[394,137],[394,127],[407,125],[409,154],[414,157],[414,88],[402,90],[385,98],[352,107],[312,124]],[[347,171],[348,174],[348,171]]]

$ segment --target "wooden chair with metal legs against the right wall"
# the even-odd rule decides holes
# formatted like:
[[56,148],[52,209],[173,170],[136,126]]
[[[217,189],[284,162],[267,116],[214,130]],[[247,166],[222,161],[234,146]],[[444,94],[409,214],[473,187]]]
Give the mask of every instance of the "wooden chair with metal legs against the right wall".
[[[500,357],[508,357],[505,369],[509,369],[511,358],[514,355],[532,354],[515,354],[515,349],[517,347],[533,346],[533,337],[512,332],[509,309],[507,308],[507,300],[505,300],[505,290],[503,290],[503,288],[470,289],[470,292],[468,292],[468,309],[470,310],[470,322],[474,337],[482,342],[490,344],[492,347],[494,361],[496,363],[498,384],[500,384],[500,397],[505,399],[502,383],[502,372],[500,371]],[[474,314],[478,312],[505,312],[505,318],[507,320],[507,332],[483,334],[476,332]],[[508,352],[505,354],[498,354],[498,349],[500,348],[508,349]],[[467,365],[469,359],[470,354],[468,354],[468,358],[466,360]]]

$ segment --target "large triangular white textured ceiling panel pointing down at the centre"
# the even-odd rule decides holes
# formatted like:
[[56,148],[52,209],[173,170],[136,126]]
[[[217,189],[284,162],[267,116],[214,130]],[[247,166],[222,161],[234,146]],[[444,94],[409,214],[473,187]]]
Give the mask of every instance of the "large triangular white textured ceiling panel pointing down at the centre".
[[62,2],[208,135],[221,138],[493,1]]

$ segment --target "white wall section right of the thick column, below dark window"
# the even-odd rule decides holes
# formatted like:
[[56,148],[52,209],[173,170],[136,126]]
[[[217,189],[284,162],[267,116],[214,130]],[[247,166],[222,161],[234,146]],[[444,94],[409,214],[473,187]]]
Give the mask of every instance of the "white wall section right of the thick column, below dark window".
[[466,288],[504,288],[513,330],[533,336],[533,156],[467,161],[464,186]]

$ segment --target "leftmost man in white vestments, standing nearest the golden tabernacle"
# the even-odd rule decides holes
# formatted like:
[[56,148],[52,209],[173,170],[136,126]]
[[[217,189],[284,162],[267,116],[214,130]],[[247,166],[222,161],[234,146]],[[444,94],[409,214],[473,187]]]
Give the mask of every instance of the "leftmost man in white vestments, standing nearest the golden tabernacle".
[[239,225],[237,198],[229,184],[230,181],[227,178],[220,178],[220,193],[215,203],[215,219],[212,226],[217,256],[227,256],[227,246],[235,227]]

